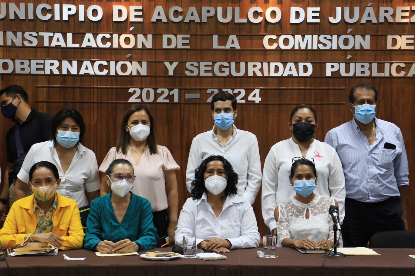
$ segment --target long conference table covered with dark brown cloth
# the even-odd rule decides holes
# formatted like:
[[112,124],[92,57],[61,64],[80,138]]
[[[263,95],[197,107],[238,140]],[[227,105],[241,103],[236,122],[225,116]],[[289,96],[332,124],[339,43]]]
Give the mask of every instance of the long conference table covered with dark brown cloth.
[[[149,250],[168,251],[165,248]],[[55,256],[7,257],[13,276],[318,276],[325,254],[301,254],[291,248],[276,248],[278,258],[259,258],[260,248],[231,250],[226,260],[205,261],[176,258],[151,261],[139,255],[98,257],[88,250],[59,251]],[[415,249],[376,248],[380,255],[327,257],[323,276],[414,276]],[[140,252],[142,254],[143,252]],[[83,261],[63,259],[86,257]],[[0,275],[7,276],[0,262]]]

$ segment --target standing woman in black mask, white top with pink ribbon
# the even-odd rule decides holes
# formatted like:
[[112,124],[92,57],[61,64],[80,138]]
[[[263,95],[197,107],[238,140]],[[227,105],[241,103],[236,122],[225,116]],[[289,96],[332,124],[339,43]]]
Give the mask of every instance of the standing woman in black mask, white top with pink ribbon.
[[344,217],[344,174],[342,163],[332,146],[314,138],[317,115],[308,105],[296,106],[288,124],[291,138],[273,145],[266,156],[262,174],[262,216],[271,235],[277,233],[274,209],[295,195],[290,187],[289,175],[293,157],[314,158],[319,175],[316,192],[333,197],[339,203],[340,221]]

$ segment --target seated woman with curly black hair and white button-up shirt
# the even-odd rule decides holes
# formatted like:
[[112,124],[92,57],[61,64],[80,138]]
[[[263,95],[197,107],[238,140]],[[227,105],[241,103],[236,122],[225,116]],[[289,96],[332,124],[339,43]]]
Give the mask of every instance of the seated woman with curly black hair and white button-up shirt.
[[175,234],[195,235],[198,248],[213,252],[258,247],[260,235],[251,204],[237,195],[238,175],[222,156],[211,155],[200,164],[192,181],[191,198],[180,212]]

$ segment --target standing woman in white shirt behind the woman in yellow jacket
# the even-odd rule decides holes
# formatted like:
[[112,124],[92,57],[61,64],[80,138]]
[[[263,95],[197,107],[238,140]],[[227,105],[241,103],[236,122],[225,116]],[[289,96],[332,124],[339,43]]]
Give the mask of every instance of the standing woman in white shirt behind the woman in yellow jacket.
[[30,168],[49,161],[59,171],[57,192],[76,201],[85,227],[89,204],[100,196],[100,180],[94,152],[81,144],[84,134],[85,122],[78,110],[65,108],[56,113],[51,122],[52,139],[34,144],[24,158],[17,174],[15,200],[27,195]]

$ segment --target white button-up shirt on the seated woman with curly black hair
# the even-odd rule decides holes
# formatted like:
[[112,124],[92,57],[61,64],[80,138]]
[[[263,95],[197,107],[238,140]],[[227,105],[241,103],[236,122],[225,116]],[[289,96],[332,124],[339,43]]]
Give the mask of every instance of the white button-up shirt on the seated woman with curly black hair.
[[254,210],[238,195],[228,196],[219,217],[207,203],[207,194],[200,199],[188,198],[180,211],[174,236],[183,247],[183,236],[195,235],[196,244],[206,239],[221,238],[231,242],[231,249],[258,247],[260,235]]

